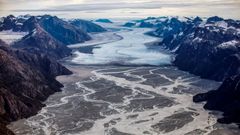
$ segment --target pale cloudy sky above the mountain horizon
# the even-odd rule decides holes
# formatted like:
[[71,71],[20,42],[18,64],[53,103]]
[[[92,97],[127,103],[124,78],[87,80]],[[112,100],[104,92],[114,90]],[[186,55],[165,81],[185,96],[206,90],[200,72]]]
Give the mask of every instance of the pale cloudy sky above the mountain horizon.
[[0,0],[0,15],[8,14],[64,18],[218,15],[240,19],[240,0]]

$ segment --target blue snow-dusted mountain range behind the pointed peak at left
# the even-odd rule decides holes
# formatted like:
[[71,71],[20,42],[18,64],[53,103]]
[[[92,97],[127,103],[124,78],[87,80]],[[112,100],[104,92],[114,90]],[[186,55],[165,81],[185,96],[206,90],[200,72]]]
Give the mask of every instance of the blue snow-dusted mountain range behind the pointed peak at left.
[[91,37],[80,27],[76,27],[56,16],[18,16],[9,15],[0,21],[0,31],[12,30],[14,32],[32,32],[41,27],[56,40],[65,45],[82,43]]

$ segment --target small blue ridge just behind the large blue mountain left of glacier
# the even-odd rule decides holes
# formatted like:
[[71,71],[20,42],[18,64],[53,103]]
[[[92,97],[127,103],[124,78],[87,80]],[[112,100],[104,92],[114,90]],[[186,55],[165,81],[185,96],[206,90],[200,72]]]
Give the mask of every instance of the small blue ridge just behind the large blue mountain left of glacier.
[[100,25],[94,24],[91,21],[74,19],[74,20],[70,20],[70,23],[85,32],[105,32],[105,31],[107,31]]

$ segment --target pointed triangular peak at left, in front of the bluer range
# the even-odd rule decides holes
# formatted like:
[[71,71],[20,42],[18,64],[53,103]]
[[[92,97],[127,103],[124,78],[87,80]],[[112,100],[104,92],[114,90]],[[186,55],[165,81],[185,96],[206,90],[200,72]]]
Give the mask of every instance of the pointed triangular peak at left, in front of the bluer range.
[[[67,38],[65,38],[67,39]],[[46,54],[51,58],[60,59],[71,54],[71,50],[62,42],[56,40],[43,28],[37,26],[28,35],[15,42],[13,47],[31,53]]]

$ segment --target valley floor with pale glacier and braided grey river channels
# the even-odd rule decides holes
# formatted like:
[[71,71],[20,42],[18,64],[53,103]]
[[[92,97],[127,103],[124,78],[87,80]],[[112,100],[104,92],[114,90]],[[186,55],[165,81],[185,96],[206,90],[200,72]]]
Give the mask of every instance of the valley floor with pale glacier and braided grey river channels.
[[71,45],[74,55],[61,63],[73,74],[57,77],[63,91],[8,128],[16,135],[239,134],[237,125],[217,123],[220,112],[192,101],[221,83],[171,65],[173,54],[149,44],[159,41],[145,34],[151,29],[112,27],[119,30],[111,38]]

